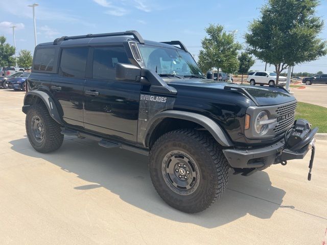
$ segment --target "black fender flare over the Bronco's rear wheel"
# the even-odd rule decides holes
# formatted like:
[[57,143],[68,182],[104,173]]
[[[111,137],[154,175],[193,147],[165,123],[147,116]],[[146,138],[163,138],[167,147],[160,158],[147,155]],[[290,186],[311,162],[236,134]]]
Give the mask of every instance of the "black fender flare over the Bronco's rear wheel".
[[58,122],[58,124],[63,125],[63,121],[61,120],[60,114],[58,112],[58,109],[56,107],[54,100],[48,93],[46,93],[44,91],[40,91],[40,90],[28,91],[24,97],[24,106],[22,107],[22,112],[27,114],[27,111],[28,111],[29,107],[31,106],[31,104],[28,103],[29,96],[39,97],[45,104],[46,108],[48,108],[50,116],[56,122]]

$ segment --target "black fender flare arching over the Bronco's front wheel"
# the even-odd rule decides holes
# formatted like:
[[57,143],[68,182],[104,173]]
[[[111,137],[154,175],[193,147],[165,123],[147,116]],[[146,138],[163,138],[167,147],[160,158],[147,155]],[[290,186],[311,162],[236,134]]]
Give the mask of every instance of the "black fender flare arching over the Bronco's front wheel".
[[167,110],[167,111],[159,112],[158,114],[156,114],[154,117],[151,118],[149,122],[149,125],[151,126],[148,128],[145,134],[146,137],[144,138],[144,142],[143,142],[143,144],[146,147],[149,145],[151,134],[153,130],[156,128],[156,126],[159,124],[159,122],[162,119],[169,118],[169,117],[193,121],[196,124],[201,125],[209,133],[211,133],[211,135],[217,140],[217,142],[221,146],[225,146],[225,147],[233,146],[233,143],[229,139],[228,135],[214,120],[194,112]]

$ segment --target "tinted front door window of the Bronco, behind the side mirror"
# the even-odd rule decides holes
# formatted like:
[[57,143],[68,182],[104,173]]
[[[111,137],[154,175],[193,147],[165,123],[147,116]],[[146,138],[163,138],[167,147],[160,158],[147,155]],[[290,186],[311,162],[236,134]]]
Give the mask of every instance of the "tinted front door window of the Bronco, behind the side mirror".
[[124,47],[95,47],[93,78],[114,80],[117,63],[130,63]]

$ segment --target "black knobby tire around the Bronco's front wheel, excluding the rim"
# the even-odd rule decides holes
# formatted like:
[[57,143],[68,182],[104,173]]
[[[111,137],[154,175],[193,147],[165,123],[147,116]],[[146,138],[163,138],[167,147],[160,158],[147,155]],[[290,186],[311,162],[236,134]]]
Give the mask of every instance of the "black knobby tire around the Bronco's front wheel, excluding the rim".
[[[199,183],[191,194],[182,195],[166,183],[162,164],[171,151],[192,157],[199,170]],[[154,188],[170,206],[186,213],[203,211],[217,201],[226,189],[229,166],[216,140],[206,132],[179,129],[155,141],[149,155],[149,171]]]

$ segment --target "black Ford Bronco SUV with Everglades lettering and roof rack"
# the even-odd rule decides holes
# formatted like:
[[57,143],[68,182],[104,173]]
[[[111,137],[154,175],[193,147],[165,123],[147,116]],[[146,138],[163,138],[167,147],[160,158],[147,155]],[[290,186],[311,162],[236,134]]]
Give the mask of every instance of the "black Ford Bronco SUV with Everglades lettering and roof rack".
[[41,153],[76,135],[149,155],[160,197],[194,213],[221,197],[230,168],[248,176],[312,149],[311,171],[318,129],[294,121],[296,103],[282,87],[205,79],[180,41],[127,31],[38,44],[22,111]]

